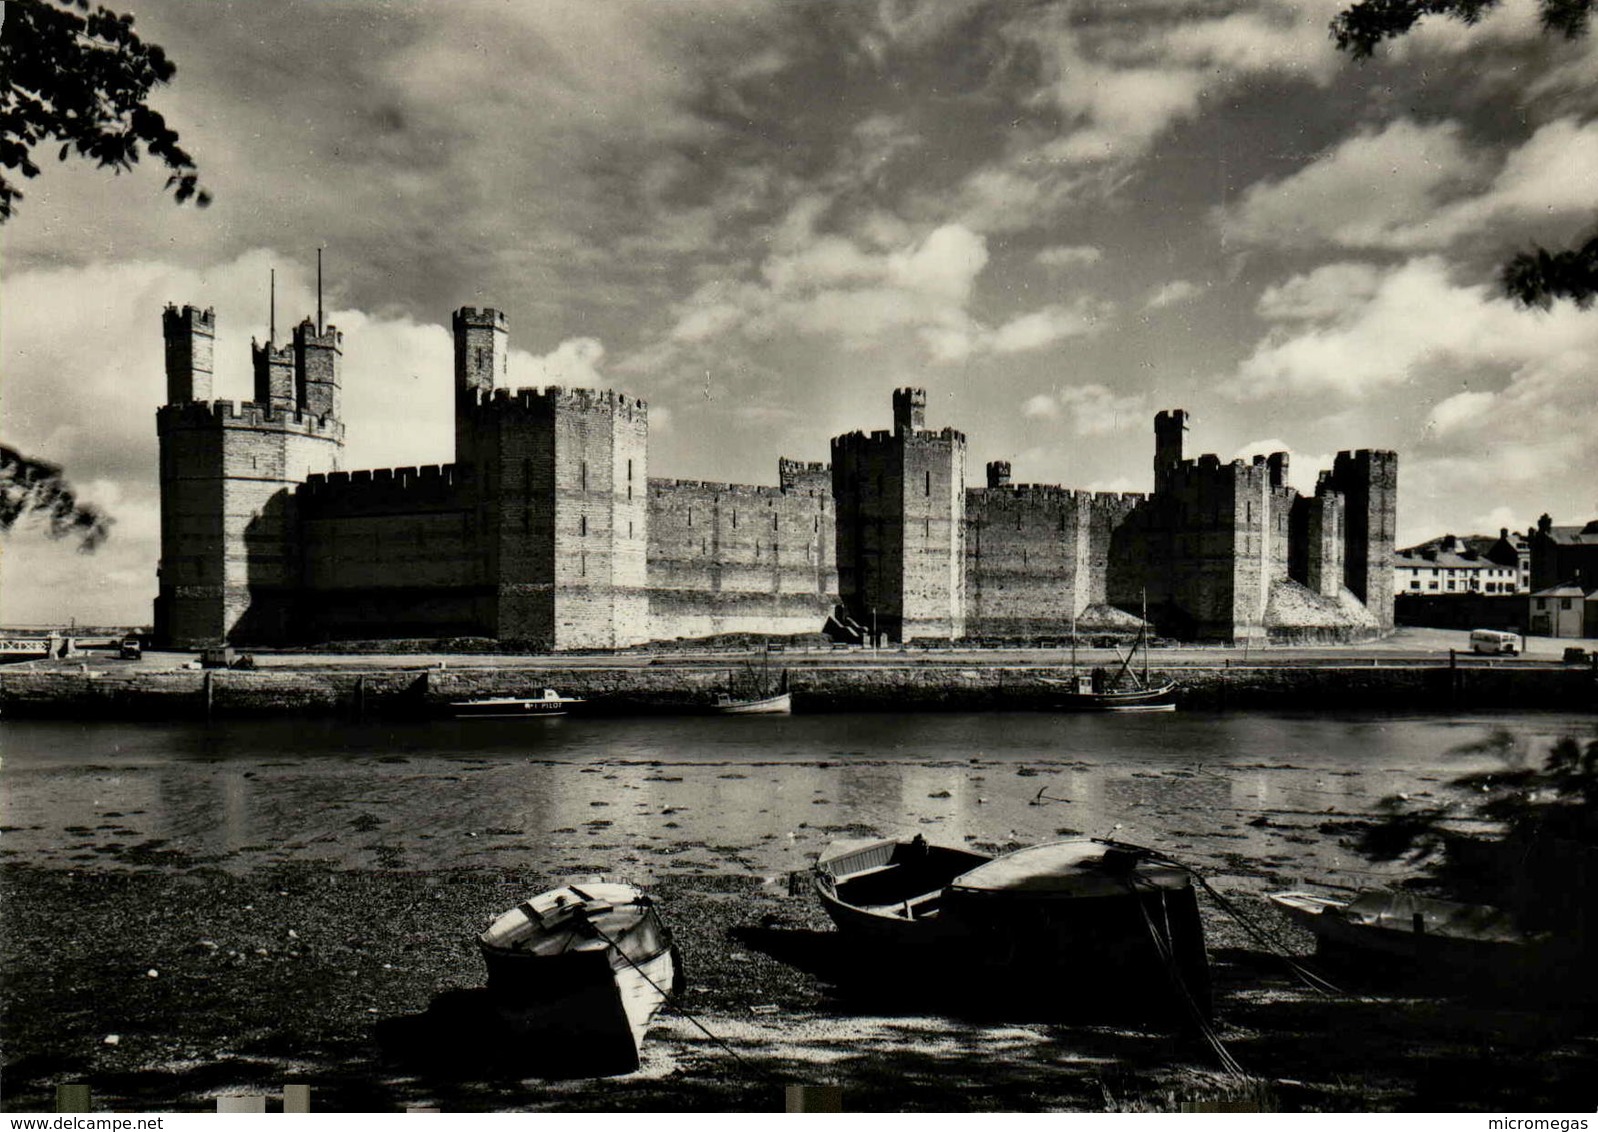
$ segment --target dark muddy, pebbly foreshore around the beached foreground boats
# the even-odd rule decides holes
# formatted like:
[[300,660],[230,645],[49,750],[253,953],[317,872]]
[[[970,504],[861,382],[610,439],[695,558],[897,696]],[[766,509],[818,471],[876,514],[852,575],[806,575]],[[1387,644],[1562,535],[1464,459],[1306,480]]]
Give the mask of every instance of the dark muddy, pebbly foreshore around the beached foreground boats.
[[[1149,1022],[975,1017],[930,994],[844,991],[818,959],[836,934],[817,902],[730,871],[650,886],[689,988],[657,1015],[636,1073],[561,1079],[515,1057],[471,1060],[484,1050],[467,1052],[470,1033],[454,1047],[438,1028],[483,987],[471,940],[486,913],[543,883],[492,868],[8,863],[5,1105],[48,1111],[56,1084],[86,1081],[99,1110],[211,1111],[217,1095],[300,1081],[313,1111],[781,1111],[781,1086],[802,1082],[842,1086],[849,1111],[1238,1098],[1267,1111],[1569,1111],[1588,1087],[1580,1015],[1390,988],[1317,998],[1206,908],[1216,1026],[1253,1076],[1245,1095],[1200,1041]],[[75,929],[69,907],[93,908],[99,931]]]

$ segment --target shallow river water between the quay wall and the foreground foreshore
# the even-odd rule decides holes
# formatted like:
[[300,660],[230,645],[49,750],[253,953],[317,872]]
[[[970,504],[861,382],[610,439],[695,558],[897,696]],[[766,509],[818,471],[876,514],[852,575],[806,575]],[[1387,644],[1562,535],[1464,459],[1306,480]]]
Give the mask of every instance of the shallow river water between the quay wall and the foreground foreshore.
[[[1326,827],[1590,716],[860,715],[6,723],[0,851],[54,865],[781,873],[836,836],[1115,835],[1198,863],[1361,883]],[[1269,823],[1250,825],[1261,815]],[[155,844],[158,843],[158,844]],[[136,849],[134,855],[128,855]],[[152,851],[158,854],[149,857]],[[145,854],[145,855],[137,855]]]

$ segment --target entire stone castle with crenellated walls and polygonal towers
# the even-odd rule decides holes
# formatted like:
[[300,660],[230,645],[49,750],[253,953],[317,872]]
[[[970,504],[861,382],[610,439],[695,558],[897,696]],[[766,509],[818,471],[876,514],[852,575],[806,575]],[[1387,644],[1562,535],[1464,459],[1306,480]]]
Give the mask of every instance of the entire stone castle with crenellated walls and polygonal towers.
[[254,400],[214,401],[216,315],[168,307],[158,409],[157,636],[487,636],[615,649],[718,633],[890,641],[1135,630],[1206,641],[1358,640],[1392,628],[1397,457],[1339,452],[1315,494],[1277,452],[1184,457],[1155,417],[1154,491],[967,486],[965,436],[893,393],[893,428],[783,459],[777,486],[649,475],[649,408],[615,392],[510,390],[497,310],[452,320],[455,462],[339,470],[344,337],[304,320],[252,345]]

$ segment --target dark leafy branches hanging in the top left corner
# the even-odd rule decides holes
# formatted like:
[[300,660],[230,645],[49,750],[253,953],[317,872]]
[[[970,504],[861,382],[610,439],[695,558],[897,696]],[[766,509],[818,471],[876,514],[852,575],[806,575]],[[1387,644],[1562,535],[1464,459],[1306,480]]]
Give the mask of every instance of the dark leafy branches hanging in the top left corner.
[[[96,165],[131,169],[141,153],[171,169],[166,187],[182,203],[205,206],[193,160],[177,133],[147,106],[150,90],[176,67],[155,43],[133,30],[133,16],[91,8],[88,0],[10,0],[0,27],[0,163],[37,177],[35,149],[59,144]],[[16,181],[0,176],[0,222],[22,198]]]

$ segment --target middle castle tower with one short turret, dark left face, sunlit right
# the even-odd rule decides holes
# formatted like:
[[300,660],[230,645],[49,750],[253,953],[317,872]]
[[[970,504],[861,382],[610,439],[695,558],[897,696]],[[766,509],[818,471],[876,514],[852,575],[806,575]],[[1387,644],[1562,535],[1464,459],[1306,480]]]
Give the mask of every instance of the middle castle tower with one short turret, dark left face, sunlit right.
[[833,438],[839,596],[888,640],[965,635],[965,436],[925,430],[893,392],[893,432]]

